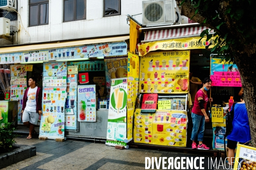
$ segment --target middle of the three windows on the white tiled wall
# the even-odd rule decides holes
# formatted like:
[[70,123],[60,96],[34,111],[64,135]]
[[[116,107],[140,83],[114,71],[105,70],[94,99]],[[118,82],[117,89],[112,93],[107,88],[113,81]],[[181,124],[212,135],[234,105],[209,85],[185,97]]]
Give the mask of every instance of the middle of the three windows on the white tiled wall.
[[64,0],[63,22],[86,20],[86,0]]

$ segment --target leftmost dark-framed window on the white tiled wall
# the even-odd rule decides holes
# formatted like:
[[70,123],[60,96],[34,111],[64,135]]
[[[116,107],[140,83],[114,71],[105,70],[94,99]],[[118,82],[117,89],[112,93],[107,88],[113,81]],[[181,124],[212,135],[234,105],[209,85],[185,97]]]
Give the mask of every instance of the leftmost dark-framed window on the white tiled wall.
[[29,26],[49,23],[49,0],[29,0]]

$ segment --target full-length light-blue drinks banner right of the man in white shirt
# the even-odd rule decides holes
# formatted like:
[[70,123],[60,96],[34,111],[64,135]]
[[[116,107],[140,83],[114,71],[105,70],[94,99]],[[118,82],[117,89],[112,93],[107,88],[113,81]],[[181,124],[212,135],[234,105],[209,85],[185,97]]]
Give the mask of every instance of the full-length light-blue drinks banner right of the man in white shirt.
[[[43,115],[41,116],[39,137],[64,138],[67,62],[44,62],[43,76]],[[50,79],[45,79],[45,77],[50,77]],[[52,79],[53,77],[61,78]],[[45,84],[45,81],[50,81],[50,84]],[[61,87],[58,87],[58,83],[61,83]],[[45,85],[51,86],[46,87]],[[55,85],[57,87],[54,87]]]

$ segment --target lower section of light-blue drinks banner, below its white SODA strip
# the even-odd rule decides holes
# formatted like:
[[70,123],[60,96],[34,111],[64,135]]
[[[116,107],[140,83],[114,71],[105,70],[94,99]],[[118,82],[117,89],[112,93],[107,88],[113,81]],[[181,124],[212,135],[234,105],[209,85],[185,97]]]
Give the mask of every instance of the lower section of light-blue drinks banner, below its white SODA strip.
[[[64,138],[64,105],[65,98],[61,94],[66,93],[66,88],[43,88],[40,136],[49,139]],[[48,129],[44,126],[49,125]]]

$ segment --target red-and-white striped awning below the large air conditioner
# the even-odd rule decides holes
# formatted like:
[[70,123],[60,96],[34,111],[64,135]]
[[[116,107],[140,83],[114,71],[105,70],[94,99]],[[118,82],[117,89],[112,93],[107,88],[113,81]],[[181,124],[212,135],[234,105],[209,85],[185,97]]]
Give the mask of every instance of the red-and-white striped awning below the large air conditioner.
[[[145,40],[144,41],[154,41],[160,39],[168,39],[172,37],[184,37],[201,34],[201,32],[208,27],[206,26],[193,26],[193,27],[181,27],[181,28],[169,28],[169,29],[157,29],[145,31]],[[213,32],[211,30],[210,32]]]

